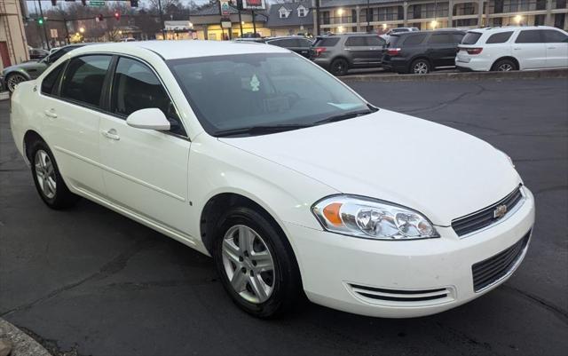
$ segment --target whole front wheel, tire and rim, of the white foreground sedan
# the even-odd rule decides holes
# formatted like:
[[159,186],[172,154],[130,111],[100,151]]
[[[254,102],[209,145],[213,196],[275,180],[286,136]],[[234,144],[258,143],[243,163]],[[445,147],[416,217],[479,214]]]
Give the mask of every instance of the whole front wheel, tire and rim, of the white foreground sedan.
[[223,287],[242,310],[271,318],[300,295],[296,259],[280,229],[256,210],[233,208],[217,223],[213,250]]

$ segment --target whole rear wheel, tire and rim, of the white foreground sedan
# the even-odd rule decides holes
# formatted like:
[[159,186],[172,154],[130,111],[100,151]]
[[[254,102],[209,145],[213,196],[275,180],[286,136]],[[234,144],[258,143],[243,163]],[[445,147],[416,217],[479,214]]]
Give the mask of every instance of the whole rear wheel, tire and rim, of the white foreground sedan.
[[65,185],[50,148],[42,140],[37,140],[30,152],[34,183],[43,202],[55,210],[73,206],[79,197]]

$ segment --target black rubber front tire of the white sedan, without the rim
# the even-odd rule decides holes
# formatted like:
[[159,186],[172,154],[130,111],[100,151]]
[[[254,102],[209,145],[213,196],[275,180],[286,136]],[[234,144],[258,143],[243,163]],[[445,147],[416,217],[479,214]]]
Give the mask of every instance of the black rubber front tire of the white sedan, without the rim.
[[[241,269],[241,272],[243,269],[246,270],[245,267],[240,268],[233,262],[229,262],[232,267],[227,267],[225,262],[227,262],[228,259],[225,259],[224,262],[223,258],[225,234],[230,233],[232,229],[238,225],[244,225],[254,230],[265,242],[264,246],[270,251],[273,260],[272,277],[269,277],[272,281],[272,293],[264,302],[253,303],[245,297],[242,297],[241,293],[237,292],[237,290],[233,288],[231,281],[229,281],[226,268],[234,267],[234,273],[239,269]],[[258,242],[258,240],[256,240],[256,242]],[[240,261],[243,261],[242,258],[244,256],[248,257],[246,250],[244,252],[238,252],[238,254]],[[226,292],[233,299],[234,304],[257,318],[273,318],[281,315],[283,312],[290,311],[302,295],[302,282],[296,263],[296,257],[288,244],[288,240],[286,240],[286,236],[282,236],[280,229],[274,226],[264,213],[259,213],[253,208],[234,207],[219,218],[215,232],[213,257],[215,258],[215,265],[220,281]],[[253,258],[254,257],[250,256],[250,259]],[[245,262],[242,263],[245,264]],[[245,271],[242,275],[246,276],[244,277],[246,290],[244,290],[243,293],[248,293],[250,290],[250,294],[252,294],[253,289],[250,284],[251,281],[253,281],[252,269]],[[259,275],[257,277],[261,278]]]

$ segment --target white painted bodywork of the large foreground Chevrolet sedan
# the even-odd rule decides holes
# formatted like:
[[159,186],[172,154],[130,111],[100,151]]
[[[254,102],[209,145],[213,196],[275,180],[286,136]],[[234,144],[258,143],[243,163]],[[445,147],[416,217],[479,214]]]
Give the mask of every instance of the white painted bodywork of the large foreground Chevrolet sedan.
[[[14,141],[28,159],[26,135],[36,132],[51,147],[73,193],[207,255],[200,221],[209,200],[218,194],[239,194],[256,202],[288,238],[307,297],[338,310],[392,318],[427,315],[466,303],[509,278],[528,247],[534,199],[508,157],[493,146],[461,131],[383,109],[303,130],[212,137],[201,127],[165,63],[165,59],[266,52],[288,50],[201,41],[183,46],[169,42],[85,46],[51,68],[89,53],[143,60],[167,88],[187,138],[139,130],[105,112],[45,96],[39,87],[48,70],[36,81],[21,83],[12,96]],[[322,69],[313,65],[313,70]],[[111,139],[111,131],[120,140]],[[455,218],[492,206],[518,186],[522,200],[504,218],[466,236],[454,232]],[[373,197],[420,211],[440,237],[375,241],[328,232],[311,207],[334,194]],[[472,265],[509,249],[524,236],[526,244],[515,264],[484,289],[474,290]],[[373,289],[367,291],[378,299],[361,295],[353,285]],[[428,298],[439,290],[444,297]],[[406,293],[414,299],[406,300]]]

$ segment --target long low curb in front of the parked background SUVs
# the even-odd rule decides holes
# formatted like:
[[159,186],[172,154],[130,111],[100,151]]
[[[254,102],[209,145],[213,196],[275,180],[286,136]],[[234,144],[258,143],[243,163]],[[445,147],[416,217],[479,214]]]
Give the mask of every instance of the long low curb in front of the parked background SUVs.
[[427,75],[345,75],[343,82],[437,82],[437,81],[482,81],[510,79],[568,78],[568,69],[546,69],[513,72],[451,72]]

